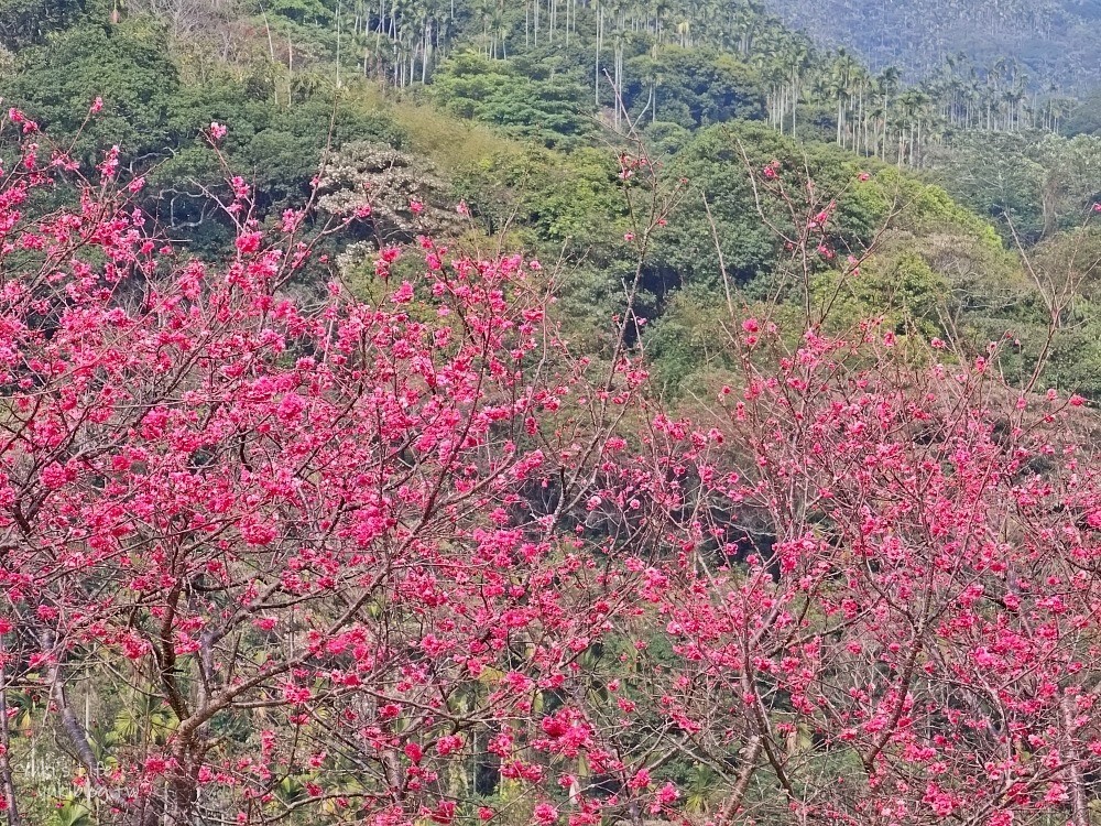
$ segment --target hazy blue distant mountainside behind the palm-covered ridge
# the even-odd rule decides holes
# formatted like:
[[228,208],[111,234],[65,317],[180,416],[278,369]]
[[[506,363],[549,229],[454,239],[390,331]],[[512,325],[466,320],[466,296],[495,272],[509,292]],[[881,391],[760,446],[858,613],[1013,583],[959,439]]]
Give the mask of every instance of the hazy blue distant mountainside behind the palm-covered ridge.
[[822,45],[858,51],[873,69],[911,79],[968,54],[990,66],[1016,57],[1029,86],[1081,93],[1101,81],[1101,0],[766,0]]

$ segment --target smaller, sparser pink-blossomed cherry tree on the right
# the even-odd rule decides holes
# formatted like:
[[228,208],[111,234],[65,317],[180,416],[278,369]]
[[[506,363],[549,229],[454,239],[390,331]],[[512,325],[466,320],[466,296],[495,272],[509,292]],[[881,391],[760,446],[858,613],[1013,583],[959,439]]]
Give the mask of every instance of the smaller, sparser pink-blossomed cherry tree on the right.
[[[756,326],[746,354],[775,343]],[[659,611],[672,739],[724,779],[722,819],[1088,824],[1101,486],[1081,400],[862,339],[808,333],[778,369],[748,355],[720,393],[741,460],[696,459],[697,556]]]

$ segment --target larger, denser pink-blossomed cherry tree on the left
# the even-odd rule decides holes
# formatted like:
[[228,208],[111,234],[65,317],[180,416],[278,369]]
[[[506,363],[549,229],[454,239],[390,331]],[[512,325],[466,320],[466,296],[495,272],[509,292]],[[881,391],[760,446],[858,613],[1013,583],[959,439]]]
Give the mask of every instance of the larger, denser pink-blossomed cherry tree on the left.
[[[377,304],[296,302],[304,214],[262,227],[235,178],[208,265],[155,239],[116,152],[94,180],[43,154],[0,195],[0,698],[44,688],[109,822],[447,823],[475,748],[537,782],[512,732],[662,539],[608,487],[645,373],[570,352],[535,261],[422,239],[381,250]],[[36,215],[63,177],[78,203]],[[145,714],[105,752],[89,703]]]

